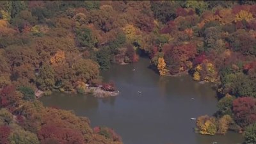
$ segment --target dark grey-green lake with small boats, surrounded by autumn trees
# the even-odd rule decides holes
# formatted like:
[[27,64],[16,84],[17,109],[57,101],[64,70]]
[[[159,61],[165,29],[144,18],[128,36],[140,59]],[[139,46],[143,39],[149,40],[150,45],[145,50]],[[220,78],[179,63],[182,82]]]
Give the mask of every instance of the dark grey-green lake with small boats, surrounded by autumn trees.
[[[122,136],[124,144],[236,144],[243,136],[202,136],[193,132],[196,118],[216,111],[216,93],[189,76],[160,77],[141,58],[132,65],[113,65],[102,72],[104,81],[114,81],[120,95],[96,99],[90,95],[53,93],[40,100],[45,106],[72,109],[87,116],[91,125],[106,125]],[[136,69],[132,71],[132,69]],[[138,94],[141,91],[141,95]],[[191,98],[195,100],[191,100]]]

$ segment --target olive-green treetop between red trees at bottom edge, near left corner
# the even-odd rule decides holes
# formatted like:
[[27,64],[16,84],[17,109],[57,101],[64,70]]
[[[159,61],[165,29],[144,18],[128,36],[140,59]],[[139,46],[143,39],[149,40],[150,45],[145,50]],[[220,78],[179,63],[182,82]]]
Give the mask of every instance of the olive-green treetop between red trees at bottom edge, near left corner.
[[24,131],[22,129],[18,129],[13,131],[8,141],[10,144],[39,144],[39,140],[36,134],[31,133],[29,131]]

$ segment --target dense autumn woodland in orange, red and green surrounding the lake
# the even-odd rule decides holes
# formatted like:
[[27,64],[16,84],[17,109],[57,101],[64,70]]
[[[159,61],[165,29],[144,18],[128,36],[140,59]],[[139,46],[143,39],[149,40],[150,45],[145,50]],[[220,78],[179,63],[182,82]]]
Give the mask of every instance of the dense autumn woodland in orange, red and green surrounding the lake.
[[150,58],[161,76],[214,83],[200,134],[256,143],[254,1],[0,1],[0,143],[122,143],[112,129],[44,108],[35,90],[83,93],[111,63]]

